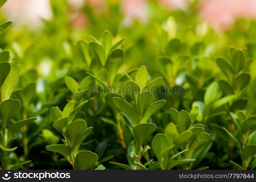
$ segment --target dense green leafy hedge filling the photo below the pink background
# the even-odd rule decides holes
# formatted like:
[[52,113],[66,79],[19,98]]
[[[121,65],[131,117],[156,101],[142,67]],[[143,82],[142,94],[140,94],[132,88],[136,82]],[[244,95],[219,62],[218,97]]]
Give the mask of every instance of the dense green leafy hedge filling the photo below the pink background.
[[0,25],[0,169],[255,169],[253,22],[118,30],[86,7],[77,31],[57,2],[40,33]]

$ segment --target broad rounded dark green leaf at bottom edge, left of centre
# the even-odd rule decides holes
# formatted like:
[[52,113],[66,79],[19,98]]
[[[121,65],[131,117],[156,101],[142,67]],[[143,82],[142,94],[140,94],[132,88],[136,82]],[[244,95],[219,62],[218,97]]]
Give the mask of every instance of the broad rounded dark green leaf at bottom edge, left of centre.
[[97,161],[97,154],[88,150],[80,151],[76,155],[76,167],[78,170],[90,169]]

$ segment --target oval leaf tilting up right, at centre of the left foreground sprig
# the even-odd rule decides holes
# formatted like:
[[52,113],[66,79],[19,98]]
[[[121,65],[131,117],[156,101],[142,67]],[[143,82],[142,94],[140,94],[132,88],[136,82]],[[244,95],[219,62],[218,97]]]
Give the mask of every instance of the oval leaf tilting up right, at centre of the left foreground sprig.
[[67,134],[71,145],[74,143],[76,138],[78,138],[78,136],[84,131],[85,128],[86,122],[84,120],[75,120],[68,125]]

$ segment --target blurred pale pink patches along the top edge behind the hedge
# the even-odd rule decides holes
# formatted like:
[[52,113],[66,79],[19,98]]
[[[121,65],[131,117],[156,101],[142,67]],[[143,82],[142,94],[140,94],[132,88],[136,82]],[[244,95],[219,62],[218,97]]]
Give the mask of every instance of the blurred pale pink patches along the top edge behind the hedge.
[[[118,1],[118,0],[112,0]],[[120,0],[124,21],[148,19],[148,1],[150,0]],[[189,0],[158,0],[159,5],[170,9],[187,11]],[[74,27],[86,26],[86,17],[81,7],[87,3],[96,13],[106,10],[106,0],[68,0],[73,9],[70,16]],[[256,18],[256,0],[201,0],[196,7],[200,18],[217,31],[229,29],[237,18]],[[49,0],[8,0],[2,11],[15,24],[29,23],[40,25],[41,18],[50,19],[52,16]]]

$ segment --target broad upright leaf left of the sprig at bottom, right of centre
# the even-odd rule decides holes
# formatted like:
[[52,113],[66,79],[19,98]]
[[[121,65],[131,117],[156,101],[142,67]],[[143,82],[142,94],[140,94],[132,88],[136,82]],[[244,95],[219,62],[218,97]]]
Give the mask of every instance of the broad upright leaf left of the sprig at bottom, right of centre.
[[153,138],[152,141],[152,147],[154,150],[155,155],[157,156],[157,160],[161,165],[161,169],[163,169],[163,157],[162,157],[162,151],[164,151],[166,148],[169,147],[168,140],[166,138],[165,134],[157,134]]

